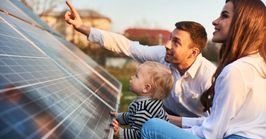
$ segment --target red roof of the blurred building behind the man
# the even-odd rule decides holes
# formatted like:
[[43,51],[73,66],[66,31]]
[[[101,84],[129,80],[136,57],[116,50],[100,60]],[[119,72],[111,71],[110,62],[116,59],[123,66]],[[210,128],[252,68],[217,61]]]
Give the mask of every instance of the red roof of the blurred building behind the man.
[[[128,38],[134,37],[142,37],[148,36],[153,40],[149,41],[158,41],[159,34],[162,34],[162,45],[166,44],[169,40],[171,32],[168,30],[160,30],[160,29],[127,29],[124,35]],[[154,40],[155,39],[155,40]]]

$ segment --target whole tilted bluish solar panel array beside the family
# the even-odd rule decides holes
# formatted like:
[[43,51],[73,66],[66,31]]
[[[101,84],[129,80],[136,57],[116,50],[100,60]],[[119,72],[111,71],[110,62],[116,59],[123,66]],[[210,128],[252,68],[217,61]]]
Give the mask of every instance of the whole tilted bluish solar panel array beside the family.
[[112,138],[121,83],[21,2],[0,10],[0,138]]

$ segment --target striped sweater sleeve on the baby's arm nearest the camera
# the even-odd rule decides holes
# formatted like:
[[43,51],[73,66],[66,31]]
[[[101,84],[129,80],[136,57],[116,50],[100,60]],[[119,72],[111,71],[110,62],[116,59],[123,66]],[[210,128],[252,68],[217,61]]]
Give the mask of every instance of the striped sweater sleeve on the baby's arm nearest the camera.
[[[152,118],[151,113],[147,110],[140,110],[135,113],[132,118],[132,128],[123,129],[120,127],[118,132],[118,138],[140,138],[141,128],[145,122]],[[121,123],[120,123],[121,124]]]

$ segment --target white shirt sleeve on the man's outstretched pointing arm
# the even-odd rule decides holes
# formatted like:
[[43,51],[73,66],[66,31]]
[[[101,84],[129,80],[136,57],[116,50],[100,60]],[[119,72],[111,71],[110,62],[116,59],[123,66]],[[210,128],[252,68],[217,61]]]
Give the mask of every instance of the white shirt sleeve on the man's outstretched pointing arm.
[[91,28],[87,39],[103,48],[129,56],[140,63],[145,61],[161,62],[166,51],[163,46],[144,46],[137,41],[127,39],[123,35],[95,28]]

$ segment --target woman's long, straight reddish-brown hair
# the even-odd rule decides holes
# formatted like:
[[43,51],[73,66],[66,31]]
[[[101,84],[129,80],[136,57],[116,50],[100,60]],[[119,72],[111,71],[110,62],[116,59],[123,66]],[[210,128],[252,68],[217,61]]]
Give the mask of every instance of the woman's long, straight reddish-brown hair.
[[[226,0],[234,5],[235,12],[225,44],[218,55],[218,66],[211,79],[211,87],[201,95],[203,112],[208,111],[214,97],[214,86],[223,68],[240,59],[257,52],[266,64],[266,7],[260,0]],[[265,71],[260,73],[266,78]]]

